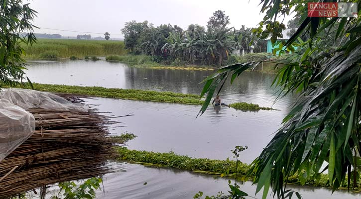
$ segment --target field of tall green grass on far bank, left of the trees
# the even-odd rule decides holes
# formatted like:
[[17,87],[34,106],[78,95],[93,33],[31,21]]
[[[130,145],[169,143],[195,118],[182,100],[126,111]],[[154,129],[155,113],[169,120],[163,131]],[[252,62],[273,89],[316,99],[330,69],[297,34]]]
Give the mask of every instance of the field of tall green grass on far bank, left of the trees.
[[25,58],[63,58],[85,56],[125,55],[123,41],[80,40],[80,39],[38,39],[32,46],[20,44],[25,49]]

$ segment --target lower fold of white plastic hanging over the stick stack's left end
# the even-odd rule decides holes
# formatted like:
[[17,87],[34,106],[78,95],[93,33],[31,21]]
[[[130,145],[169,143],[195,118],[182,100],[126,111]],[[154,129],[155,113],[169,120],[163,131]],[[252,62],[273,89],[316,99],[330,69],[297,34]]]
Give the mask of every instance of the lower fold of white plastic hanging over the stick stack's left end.
[[23,108],[0,102],[0,161],[35,131],[34,116]]

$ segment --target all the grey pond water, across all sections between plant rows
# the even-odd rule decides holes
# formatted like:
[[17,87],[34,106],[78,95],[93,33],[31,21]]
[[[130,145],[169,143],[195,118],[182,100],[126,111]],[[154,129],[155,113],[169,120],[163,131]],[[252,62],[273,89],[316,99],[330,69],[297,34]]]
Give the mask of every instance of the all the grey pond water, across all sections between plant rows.
[[[148,89],[178,93],[200,94],[200,83],[213,71],[157,70],[127,67],[118,62],[61,61],[29,62],[27,76],[31,81],[44,84],[77,86],[102,86],[107,88]],[[240,111],[228,107],[208,110],[196,119],[200,105],[115,100],[96,98],[89,104],[99,104],[102,112],[114,115],[133,113],[121,117],[125,127],[113,131],[131,132],[137,135],[129,141],[128,148],[155,152],[170,152],[197,158],[232,159],[231,150],[237,146],[249,148],[241,153],[240,160],[251,163],[270,141],[288,112],[293,96],[286,96],[274,103],[277,89],[271,88],[274,75],[260,72],[244,72],[231,86],[226,84],[221,98],[225,103],[238,101],[272,106],[276,110]],[[274,103],[274,104],[273,104]],[[105,194],[98,198],[113,199],[192,199],[198,191],[215,195],[227,193],[228,179],[214,178],[187,171],[165,168],[149,168],[135,164],[116,164],[126,172],[105,176]],[[146,185],[144,183],[147,182]],[[254,194],[250,183],[241,189]],[[304,198],[330,198],[331,191],[309,187],[301,190]],[[253,195],[252,195],[253,196]],[[359,198],[360,195],[336,192],[333,198]],[[257,195],[257,198],[261,196]]]

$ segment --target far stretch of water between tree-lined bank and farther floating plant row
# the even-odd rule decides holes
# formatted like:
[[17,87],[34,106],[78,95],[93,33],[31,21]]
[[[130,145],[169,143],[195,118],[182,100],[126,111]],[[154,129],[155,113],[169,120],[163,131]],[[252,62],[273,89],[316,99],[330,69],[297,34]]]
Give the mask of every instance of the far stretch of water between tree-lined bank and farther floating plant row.
[[[102,86],[106,88],[148,89],[199,95],[199,84],[213,71],[158,70],[127,67],[118,62],[68,60],[55,63],[30,62],[27,76],[33,82],[77,86]],[[224,86],[221,98],[229,104],[237,101],[272,106],[277,89],[271,88],[274,75],[244,72],[234,85]],[[274,107],[286,109],[293,98],[279,100]]]

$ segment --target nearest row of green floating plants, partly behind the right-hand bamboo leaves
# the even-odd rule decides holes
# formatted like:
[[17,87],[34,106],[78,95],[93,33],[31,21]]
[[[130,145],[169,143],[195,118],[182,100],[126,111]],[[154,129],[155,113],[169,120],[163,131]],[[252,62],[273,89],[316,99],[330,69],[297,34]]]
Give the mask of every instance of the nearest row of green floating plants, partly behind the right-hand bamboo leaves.
[[[239,162],[238,169],[236,170],[236,161],[229,159],[212,160],[206,158],[191,158],[189,156],[177,155],[173,152],[159,153],[137,151],[129,150],[126,147],[117,147],[117,150],[119,153],[118,160],[126,160],[130,163],[137,163],[144,166],[153,167],[172,167],[209,175],[220,175],[222,177],[227,176],[231,178],[234,178],[237,172],[237,176],[239,176],[241,180],[251,180],[245,177],[249,169],[249,165]],[[300,175],[291,176],[288,178],[288,183],[296,185],[330,187],[330,183],[326,174],[318,175],[316,181],[304,179],[303,176],[306,176],[303,172]],[[250,177],[253,177],[253,175]],[[351,186],[353,186],[352,182],[351,184]],[[358,188],[360,188],[360,186],[360,184],[357,185]],[[343,183],[342,188],[347,188],[345,182]],[[357,190],[359,189],[356,189],[355,191]]]

